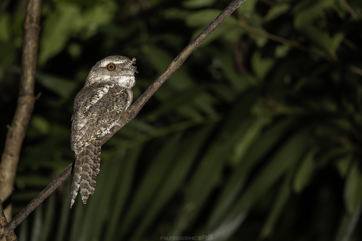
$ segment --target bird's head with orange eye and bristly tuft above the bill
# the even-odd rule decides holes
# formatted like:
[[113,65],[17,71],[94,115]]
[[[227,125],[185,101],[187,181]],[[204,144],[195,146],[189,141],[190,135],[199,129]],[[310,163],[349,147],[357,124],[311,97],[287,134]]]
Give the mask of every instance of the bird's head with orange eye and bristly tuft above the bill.
[[86,85],[97,82],[111,82],[116,85],[131,88],[135,85],[136,59],[121,55],[108,56],[100,60],[89,71]]

